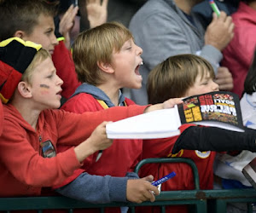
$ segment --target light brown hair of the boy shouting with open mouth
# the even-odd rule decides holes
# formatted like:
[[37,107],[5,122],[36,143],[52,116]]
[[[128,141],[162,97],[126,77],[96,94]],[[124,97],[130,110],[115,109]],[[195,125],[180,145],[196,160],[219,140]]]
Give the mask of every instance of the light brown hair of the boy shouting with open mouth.
[[73,61],[79,81],[92,85],[102,83],[97,63],[111,63],[113,51],[119,52],[131,38],[131,32],[114,21],[81,32],[73,43]]

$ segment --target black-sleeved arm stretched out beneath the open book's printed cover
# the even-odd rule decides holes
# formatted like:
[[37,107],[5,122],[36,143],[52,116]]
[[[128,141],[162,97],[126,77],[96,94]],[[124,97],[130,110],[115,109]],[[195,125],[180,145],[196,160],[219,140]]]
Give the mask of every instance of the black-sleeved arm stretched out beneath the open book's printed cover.
[[255,138],[256,131],[252,129],[236,132],[216,127],[189,127],[178,137],[172,153],[178,153],[181,149],[216,152],[249,150],[256,152]]

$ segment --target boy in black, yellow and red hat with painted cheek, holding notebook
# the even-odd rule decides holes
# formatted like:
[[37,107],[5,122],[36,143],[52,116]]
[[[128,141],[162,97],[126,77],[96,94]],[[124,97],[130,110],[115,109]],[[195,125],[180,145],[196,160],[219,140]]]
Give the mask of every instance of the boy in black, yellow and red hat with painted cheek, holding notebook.
[[[82,115],[52,110],[60,107],[63,82],[56,75],[49,53],[41,49],[41,45],[17,37],[0,43],[0,69],[1,77],[5,78],[0,97],[8,102],[3,106],[3,135],[0,137],[1,197],[40,195],[42,187],[61,184],[79,169],[84,158],[112,144],[106,136],[106,122],[102,121],[119,120],[145,109],[149,112],[163,107],[114,107]],[[57,154],[57,143],[77,147]],[[96,181],[97,176],[88,176],[84,174],[89,182]],[[119,178],[101,176],[97,181],[104,187],[105,182],[111,184],[113,179]],[[149,190],[158,194],[156,187],[143,179],[135,183],[141,190],[135,194],[135,199],[139,198],[137,202],[154,201]],[[90,189],[86,195],[95,198],[98,195],[100,202],[102,188],[96,185]],[[108,196],[111,195],[109,192]]]

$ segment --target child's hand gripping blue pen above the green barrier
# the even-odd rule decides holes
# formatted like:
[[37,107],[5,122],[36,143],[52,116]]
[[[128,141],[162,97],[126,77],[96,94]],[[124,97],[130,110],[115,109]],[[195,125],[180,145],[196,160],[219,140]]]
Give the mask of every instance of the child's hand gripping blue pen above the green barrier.
[[143,203],[143,201],[147,200],[154,202],[154,194],[159,195],[159,191],[158,188],[154,187],[148,180],[152,181],[153,176],[146,176],[141,179],[128,180],[126,199],[137,204],[141,204]]

